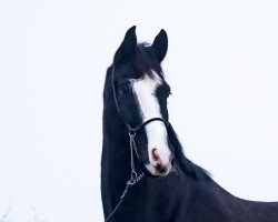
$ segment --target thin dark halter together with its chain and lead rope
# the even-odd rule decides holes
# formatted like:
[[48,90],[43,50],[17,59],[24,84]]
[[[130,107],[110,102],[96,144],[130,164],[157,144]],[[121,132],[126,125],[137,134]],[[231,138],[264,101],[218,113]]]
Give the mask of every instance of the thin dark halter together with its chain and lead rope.
[[117,210],[119,209],[120,204],[122,203],[123,198],[128,193],[129,188],[132,186],[132,185],[135,185],[137,182],[139,182],[142,179],[142,176],[143,176],[143,172],[138,175],[137,172],[136,172],[136,168],[135,168],[133,152],[136,153],[137,159],[140,161],[140,155],[139,155],[138,149],[136,147],[136,140],[135,140],[136,133],[138,131],[140,131],[145,125],[147,125],[147,124],[149,124],[149,123],[151,123],[153,121],[161,121],[161,122],[163,122],[167,129],[169,127],[169,122],[167,120],[165,120],[162,118],[151,118],[151,119],[142,122],[141,124],[132,128],[126,121],[125,117],[122,115],[122,113],[120,111],[120,107],[119,107],[118,99],[117,99],[117,91],[116,91],[116,87],[115,87],[115,81],[116,81],[116,79],[115,79],[115,65],[113,65],[112,67],[112,75],[111,75],[111,85],[112,85],[112,92],[113,92],[113,101],[115,101],[115,104],[116,104],[116,108],[118,110],[119,115],[121,117],[123,123],[126,124],[126,127],[128,129],[128,135],[129,135],[129,142],[130,142],[130,168],[131,168],[130,171],[131,171],[131,173],[130,173],[130,179],[127,182],[126,189],[125,189],[123,193],[121,194],[118,204],[112,210],[112,212],[105,219],[105,222],[108,222],[112,218],[112,215],[117,212]]

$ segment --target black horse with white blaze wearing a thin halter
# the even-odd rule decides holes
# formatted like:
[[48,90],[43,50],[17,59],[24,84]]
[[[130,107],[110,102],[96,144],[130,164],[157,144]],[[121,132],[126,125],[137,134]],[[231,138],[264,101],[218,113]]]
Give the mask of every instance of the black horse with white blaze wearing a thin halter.
[[234,196],[186,158],[169,123],[161,62],[168,36],[138,43],[131,27],[107,69],[101,198],[106,221],[278,222],[278,202]]

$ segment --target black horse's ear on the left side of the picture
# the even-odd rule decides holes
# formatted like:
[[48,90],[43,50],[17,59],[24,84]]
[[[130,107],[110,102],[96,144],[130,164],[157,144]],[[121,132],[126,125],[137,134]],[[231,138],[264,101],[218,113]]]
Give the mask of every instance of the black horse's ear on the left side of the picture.
[[121,42],[119,49],[116,51],[113,57],[113,63],[118,63],[121,60],[131,56],[136,50],[136,26],[133,26],[127,31],[123,41]]

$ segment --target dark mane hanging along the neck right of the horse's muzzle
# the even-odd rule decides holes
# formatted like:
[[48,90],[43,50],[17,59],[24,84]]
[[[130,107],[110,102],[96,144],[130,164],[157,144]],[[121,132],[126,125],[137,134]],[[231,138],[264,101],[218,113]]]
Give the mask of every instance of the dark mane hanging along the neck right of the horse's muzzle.
[[182,147],[179,142],[178,135],[175,132],[171,124],[169,124],[169,128],[168,128],[168,135],[169,135],[169,139],[170,139],[172,147],[175,149],[175,157],[177,159],[177,162],[179,164],[180,170],[183,173],[191,175],[192,178],[195,178],[197,180],[210,181],[211,176],[210,176],[209,172],[207,172],[205,169],[195,164],[192,161],[190,161],[189,159],[186,158],[186,155],[182,151]]

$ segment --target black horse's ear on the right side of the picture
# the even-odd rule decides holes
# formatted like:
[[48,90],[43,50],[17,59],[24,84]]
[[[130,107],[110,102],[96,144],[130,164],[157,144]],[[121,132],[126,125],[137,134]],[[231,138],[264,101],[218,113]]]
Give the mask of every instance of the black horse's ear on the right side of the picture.
[[163,29],[160,30],[151,47],[156,51],[159,62],[161,62],[168,49],[168,37]]

